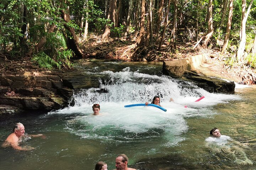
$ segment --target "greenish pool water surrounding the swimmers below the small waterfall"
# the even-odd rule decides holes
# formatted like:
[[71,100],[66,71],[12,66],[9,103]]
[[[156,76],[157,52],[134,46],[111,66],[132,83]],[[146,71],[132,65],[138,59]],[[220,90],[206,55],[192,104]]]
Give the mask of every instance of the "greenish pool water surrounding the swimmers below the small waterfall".
[[[240,99],[192,109],[188,105],[184,114],[183,103],[163,102],[168,111],[173,110],[156,112],[124,109],[123,103],[118,106],[114,101],[102,102],[102,117],[90,115],[91,105],[63,109],[63,114],[2,114],[0,142],[17,122],[25,125],[28,134],[46,138],[22,142],[22,146],[36,148],[32,151],[0,147],[0,169],[93,170],[98,161],[104,161],[111,170],[121,153],[138,170],[256,169],[256,89],[238,89],[235,96]],[[209,97],[205,100],[210,102]],[[207,146],[205,139],[214,127],[232,141]]]

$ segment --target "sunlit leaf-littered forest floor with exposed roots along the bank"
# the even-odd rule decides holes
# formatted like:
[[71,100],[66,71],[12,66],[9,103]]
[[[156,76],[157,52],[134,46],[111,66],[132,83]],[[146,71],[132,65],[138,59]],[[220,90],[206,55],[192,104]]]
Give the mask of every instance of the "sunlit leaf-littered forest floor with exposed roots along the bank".
[[[220,54],[219,49],[202,49],[198,46],[192,50],[196,42],[180,40],[177,42],[176,50],[170,52],[168,42],[161,46],[151,45],[148,49],[137,48],[136,38],[128,37],[118,40],[109,39],[102,41],[99,37],[90,37],[87,41],[80,42],[80,49],[84,52],[84,58],[101,58],[125,61],[166,61],[185,58],[198,54],[207,54],[206,63],[202,64],[197,72],[201,72],[209,77],[221,77],[228,80],[236,81],[241,84],[254,84],[254,70],[245,66],[230,67],[226,64],[231,54]],[[28,56],[3,55],[0,53],[0,75],[17,74],[22,72],[31,72],[33,74],[40,73],[42,68],[31,62]]]

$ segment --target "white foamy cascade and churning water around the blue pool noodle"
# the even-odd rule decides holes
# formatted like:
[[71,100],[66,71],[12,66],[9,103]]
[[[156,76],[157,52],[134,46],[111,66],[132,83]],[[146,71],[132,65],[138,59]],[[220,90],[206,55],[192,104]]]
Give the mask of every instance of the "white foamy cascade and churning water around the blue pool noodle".
[[[97,70],[95,67],[94,70]],[[79,114],[67,121],[67,129],[81,138],[93,138],[103,141],[130,142],[147,141],[151,137],[161,137],[163,145],[176,145],[184,140],[178,137],[188,127],[186,117],[218,114],[210,107],[230,100],[239,100],[239,96],[209,93],[190,82],[172,79],[165,75],[149,75],[130,71],[130,67],[120,72],[86,72],[105,75],[99,79],[98,89],[83,89],[74,94],[74,106],[60,109],[49,114]],[[164,112],[155,107],[129,107],[128,104],[151,102],[154,96],[160,96],[160,104],[167,109]],[[201,101],[196,101],[204,96]],[[173,98],[174,102],[170,102]],[[92,105],[101,106],[100,115],[92,115]]]

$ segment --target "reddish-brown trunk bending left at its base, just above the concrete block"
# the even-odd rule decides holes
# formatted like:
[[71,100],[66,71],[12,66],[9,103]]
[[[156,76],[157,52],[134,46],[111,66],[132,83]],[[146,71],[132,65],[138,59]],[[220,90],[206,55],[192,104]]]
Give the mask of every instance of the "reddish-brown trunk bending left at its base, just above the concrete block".
[[204,48],[207,48],[207,44],[213,34],[212,0],[209,0],[207,19],[208,19],[208,32],[204,40],[204,44],[203,44]]

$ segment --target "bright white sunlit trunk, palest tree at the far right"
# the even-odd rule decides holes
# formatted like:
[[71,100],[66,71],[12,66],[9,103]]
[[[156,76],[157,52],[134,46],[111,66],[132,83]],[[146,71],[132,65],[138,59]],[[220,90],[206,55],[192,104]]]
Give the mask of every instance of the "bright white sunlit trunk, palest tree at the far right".
[[246,42],[246,32],[245,32],[245,24],[246,24],[246,17],[245,17],[245,6],[246,0],[242,0],[242,21],[241,21],[241,41],[237,53],[238,61],[242,61],[242,56],[245,50],[245,42]]

